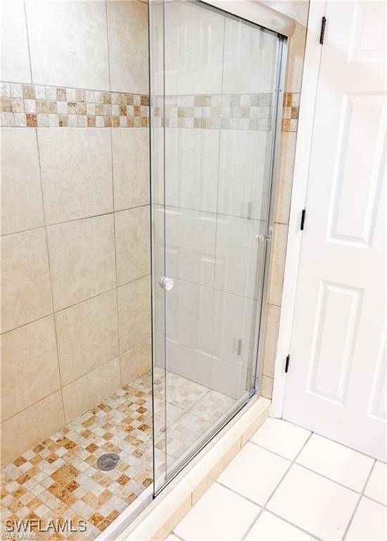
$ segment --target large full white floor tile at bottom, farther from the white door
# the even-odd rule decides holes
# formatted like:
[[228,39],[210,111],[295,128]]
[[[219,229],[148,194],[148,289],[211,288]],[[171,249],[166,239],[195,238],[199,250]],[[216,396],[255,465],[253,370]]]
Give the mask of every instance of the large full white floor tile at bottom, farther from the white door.
[[341,540],[359,495],[293,464],[267,509],[324,540]]

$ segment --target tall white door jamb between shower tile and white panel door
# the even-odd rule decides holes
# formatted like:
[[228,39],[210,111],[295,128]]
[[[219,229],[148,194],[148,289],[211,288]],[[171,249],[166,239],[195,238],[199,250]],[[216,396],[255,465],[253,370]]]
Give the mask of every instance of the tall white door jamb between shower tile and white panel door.
[[[305,235],[305,230],[303,232],[300,230],[300,220],[301,213],[303,209],[306,208],[305,203],[307,199],[307,180],[310,168],[310,150],[315,120],[315,102],[322,56],[322,45],[320,44],[319,39],[321,21],[326,12],[326,4],[327,1],[310,0],[309,17],[307,21],[307,39],[305,46],[303,85],[300,96],[300,118],[298,120],[291,210],[288,225],[284,288],[282,291],[277,354],[274,365],[274,387],[270,411],[272,416],[278,418],[281,418],[284,412],[287,376],[285,373],[285,364],[286,356],[291,354],[291,332],[296,303],[298,268],[300,264],[302,239],[303,235]],[[329,30],[329,28],[327,30]],[[305,159],[305,156],[307,156],[307,159]],[[292,362],[297,362],[297,360],[291,359],[291,363]],[[291,371],[291,363],[289,371]]]

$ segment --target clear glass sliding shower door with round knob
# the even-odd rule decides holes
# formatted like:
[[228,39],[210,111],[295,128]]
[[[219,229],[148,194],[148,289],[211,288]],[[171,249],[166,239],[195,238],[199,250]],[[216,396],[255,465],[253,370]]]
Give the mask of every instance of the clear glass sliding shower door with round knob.
[[283,39],[150,5],[155,492],[256,391]]

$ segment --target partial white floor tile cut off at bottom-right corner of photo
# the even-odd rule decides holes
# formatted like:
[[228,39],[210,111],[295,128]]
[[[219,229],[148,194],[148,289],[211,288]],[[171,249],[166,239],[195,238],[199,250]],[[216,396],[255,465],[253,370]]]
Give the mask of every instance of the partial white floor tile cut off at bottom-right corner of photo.
[[345,540],[385,541],[386,539],[387,507],[363,497]]

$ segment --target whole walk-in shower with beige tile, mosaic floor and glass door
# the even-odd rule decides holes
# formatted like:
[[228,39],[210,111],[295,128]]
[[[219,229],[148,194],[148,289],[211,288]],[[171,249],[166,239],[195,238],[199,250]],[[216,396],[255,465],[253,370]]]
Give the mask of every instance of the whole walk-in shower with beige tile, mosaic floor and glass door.
[[212,4],[1,4],[1,533],[117,538],[259,392],[292,23]]

